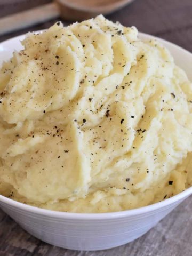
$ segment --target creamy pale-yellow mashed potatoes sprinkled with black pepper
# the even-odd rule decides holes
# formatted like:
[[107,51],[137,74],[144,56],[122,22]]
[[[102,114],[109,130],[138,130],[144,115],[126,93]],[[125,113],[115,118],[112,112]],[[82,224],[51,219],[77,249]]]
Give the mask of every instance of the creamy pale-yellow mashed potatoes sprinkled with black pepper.
[[161,44],[102,15],[22,44],[0,76],[2,195],[111,212],[190,186],[192,85]]

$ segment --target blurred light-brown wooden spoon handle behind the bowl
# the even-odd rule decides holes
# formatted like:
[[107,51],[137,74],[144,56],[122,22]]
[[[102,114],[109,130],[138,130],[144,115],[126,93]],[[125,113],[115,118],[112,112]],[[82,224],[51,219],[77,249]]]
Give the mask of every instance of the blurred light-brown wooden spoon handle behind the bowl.
[[45,4],[0,19],[0,35],[59,17],[58,5]]

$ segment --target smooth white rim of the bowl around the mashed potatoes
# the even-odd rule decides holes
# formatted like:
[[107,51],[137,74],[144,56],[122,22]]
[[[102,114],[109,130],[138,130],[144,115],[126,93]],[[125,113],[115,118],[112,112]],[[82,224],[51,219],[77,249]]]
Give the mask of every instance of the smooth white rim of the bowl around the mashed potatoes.
[[[38,31],[35,31],[35,33],[42,33],[42,31],[44,30],[38,30]],[[20,41],[20,39],[26,34],[15,36],[3,42],[0,42],[0,46],[2,44],[10,43],[13,39]],[[170,47],[173,47],[173,49],[190,54],[192,58],[191,52],[187,51],[186,49],[183,49],[181,46],[178,46],[174,43],[166,41],[165,39],[162,39],[153,35],[149,35],[146,33],[141,33],[141,32],[139,32],[138,35],[139,37],[141,36],[141,38],[143,37],[143,39],[147,39],[147,38],[157,39],[159,42],[165,44],[165,46],[168,45]],[[164,207],[174,204],[176,202],[180,202],[185,198],[187,198],[188,196],[190,196],[191,194],[192,194],[192,186],[185,189],[184,191],[182,191],[177,195],[174,195],[170,198],[164,199],[163,201],[159,201],[154,204],[150,204],[147,206],[143,206],[143,207],[139,207],[131,210],[124,210],[119,212],[105,212],[105,213],[74,213],[74,212],[61,212],[61,211],[48,210],[48,209],[43,209],[43,208],[39,208],[32,205],[23,204],[18,201],[14,201],[13,199],[5,197],[3,195],[0,195],[0,203],[9,205],[11,207],[15,207],[19,210],[27,211],[34,214],[44,215],[46,217],[51,217],[51,218],[64,218],[64,219],[76,219],[76,220],[103,220],[103,219],[131,217],[135,215],[145,214],[148,212],[153,212],[161,208],[163,209]],[[1,205],[0,205],[0,208],[1,208]]]

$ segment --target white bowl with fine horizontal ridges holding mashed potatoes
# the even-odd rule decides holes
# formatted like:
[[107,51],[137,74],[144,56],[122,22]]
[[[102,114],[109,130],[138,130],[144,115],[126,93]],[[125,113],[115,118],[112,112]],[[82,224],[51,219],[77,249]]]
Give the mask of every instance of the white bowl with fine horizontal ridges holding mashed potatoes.
[[[142,39],[151,36],[139,34]],[[20,50],[18,36],[0,44],[1,61]],[[175,62],[192,80],[192,54],[181,47],[159,39],[172,53]],[[74,250],[102,250],[116,247],[145,234],[159,220],[192,194],[192,187],[162,202],[113,213],[66,213],[25,205],[0,195],[1,209],[31,235],[56,246]]]

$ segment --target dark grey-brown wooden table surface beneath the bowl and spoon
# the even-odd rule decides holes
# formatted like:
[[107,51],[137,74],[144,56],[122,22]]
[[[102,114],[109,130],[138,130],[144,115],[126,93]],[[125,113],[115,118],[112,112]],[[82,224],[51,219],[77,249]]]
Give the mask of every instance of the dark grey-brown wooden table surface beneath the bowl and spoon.
[[[49,0],[0,0],[0,17]],[[192,0],[135,0],[107,18],[167,39],[192,52]],[[0,42],[27,31],[51,26],[55,20],[0,37]],[[68,24],[67,21],[63,21]],[[192,198],[188,198],[146,235],[115,249],[79,252],[60,249],[27,234],[0,210],[0,256],[191,256]]]

